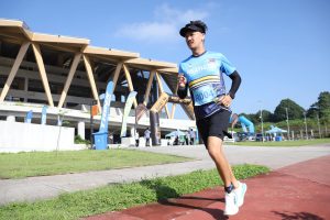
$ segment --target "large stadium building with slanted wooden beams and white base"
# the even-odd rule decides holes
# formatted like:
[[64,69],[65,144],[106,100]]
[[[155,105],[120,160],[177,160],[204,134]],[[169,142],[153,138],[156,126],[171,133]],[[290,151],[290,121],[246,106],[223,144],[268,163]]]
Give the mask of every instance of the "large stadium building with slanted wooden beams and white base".
[[[151,109],[161,95],[168,98],[161,105],[162,138],[170,131],[195,127],[191,102],[176,99],[176,64],[140,57],[139,53],[95,47],[87,38],[35,33],[22,21],[0,20],[0,122],[24,122],[33,112],[32,124],[41,124],[42,109],[47,106],[46,124],[57,125],[62,116],[75,135],[90,139],[90,107],[99,114],[101,95],[108,81],[113,81],[109,116],[109,132],[120,142],[123,108],[128,95],[136,91],[128,119],[128,131],[135,124],[135,108],[143,103]],[[166,90],[166,91],[165,91]],[[175,119],[180,105],[187,120]],[[148,111],[138,123],[138,131],[150,127]],[[3,136],[3,133],[2,133]],[[0,142],[1,143],[1,142]]]

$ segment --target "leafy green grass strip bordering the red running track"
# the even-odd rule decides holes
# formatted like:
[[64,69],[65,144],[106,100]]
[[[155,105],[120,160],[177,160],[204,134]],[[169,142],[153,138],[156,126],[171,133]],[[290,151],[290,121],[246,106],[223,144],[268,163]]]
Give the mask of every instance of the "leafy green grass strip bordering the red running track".
[[[267,173],[256,165],[234,166],[239,179]],[[64,194],[51,200],[20,202],[0,207],[0,219],[78,219],[107,211],[121,210],[167,198],[200,191],[222,185],[216,169],[198,170],[186,175],[155,178],[139,183],[111,185],[92,190]],[[219,198],[222,195],[219,194]]]

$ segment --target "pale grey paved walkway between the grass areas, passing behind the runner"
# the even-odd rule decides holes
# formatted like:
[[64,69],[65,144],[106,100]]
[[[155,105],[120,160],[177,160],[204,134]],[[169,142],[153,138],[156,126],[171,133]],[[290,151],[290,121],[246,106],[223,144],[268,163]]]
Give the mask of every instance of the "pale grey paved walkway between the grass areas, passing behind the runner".
[[[202,145],[162,146],[140,150],[195,157],[197,161],[80,174],[29,177],[24,179],[0,179],[0,205],[13,201],[34,201],[56,197],[63,193],[91,189],[114,183],[136,182],[142,178],[179,175],[215,167]],[[330,155],[330,144],[304,147],[230,145],[226,146],[224,150],[231,164],[260,164],[272,169]]]

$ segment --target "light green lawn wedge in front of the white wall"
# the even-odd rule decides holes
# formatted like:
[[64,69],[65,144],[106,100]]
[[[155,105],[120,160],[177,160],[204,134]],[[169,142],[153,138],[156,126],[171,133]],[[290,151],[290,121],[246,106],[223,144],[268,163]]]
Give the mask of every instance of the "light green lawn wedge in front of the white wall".
[[134,150],[1,153],[0,178],[106,170],[193,161]]

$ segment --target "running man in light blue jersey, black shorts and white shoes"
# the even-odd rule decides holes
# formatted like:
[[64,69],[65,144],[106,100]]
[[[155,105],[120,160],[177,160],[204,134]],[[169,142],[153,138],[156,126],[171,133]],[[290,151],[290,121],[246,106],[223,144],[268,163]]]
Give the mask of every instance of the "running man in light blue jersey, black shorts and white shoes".
[[[231,216],[238,213],[243,205],[246,185],[234,177],[222,142],[228,134],[230,105],[240,87],[241,77],[222,54],[206,51],[206,31],[207,25],[202,21],[191,21],[179,32],[193,55],[179,64],[177,94],[183,99],[189,88],[198,131],[224,183],[224,215]],[[232,80],[228,94],[223,74]]]

